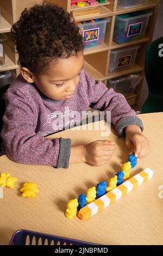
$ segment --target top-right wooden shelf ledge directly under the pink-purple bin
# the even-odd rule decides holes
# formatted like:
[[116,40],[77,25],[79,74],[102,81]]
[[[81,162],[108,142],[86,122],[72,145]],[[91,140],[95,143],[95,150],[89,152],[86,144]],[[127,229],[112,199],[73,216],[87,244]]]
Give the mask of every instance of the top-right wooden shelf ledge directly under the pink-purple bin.
[[156,6],[156,3],[154,3],[154,0],[153,1],[148,0],[147,3],[139,5],[137,7],[126,8],[126,9],[117,8],[117,10],[114,12],[114,15],[124,14],[124,13],[132,13],[133,11],[145,10],[145,9],[153,8],[155,6]]

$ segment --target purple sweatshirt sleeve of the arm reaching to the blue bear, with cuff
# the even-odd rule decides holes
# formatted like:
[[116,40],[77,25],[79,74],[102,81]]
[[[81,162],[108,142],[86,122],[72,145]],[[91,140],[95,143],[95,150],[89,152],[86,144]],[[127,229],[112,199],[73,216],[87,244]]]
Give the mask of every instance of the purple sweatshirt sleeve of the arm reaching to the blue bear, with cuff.
[[83,71],[82,79],[86,81],[83,87],[87,103],[93,109],[111,112],[111,123],[115,125],[117,134],[124,136],[124,128],[129,125],[139,125],[143,131],[143,124],[136,112],[131,109],[126,98],[121,93],[116,93],[114,89],[108,89],[102,81],[95,81],[86,71]]

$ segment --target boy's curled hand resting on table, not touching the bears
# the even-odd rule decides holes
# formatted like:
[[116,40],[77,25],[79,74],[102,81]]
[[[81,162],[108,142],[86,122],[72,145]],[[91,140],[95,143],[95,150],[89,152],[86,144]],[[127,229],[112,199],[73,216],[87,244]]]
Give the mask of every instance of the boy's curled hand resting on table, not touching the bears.
[[95,141],[84,145],[84,157],[92,166],[102,166],[109,161],[116,149],[115,142]]

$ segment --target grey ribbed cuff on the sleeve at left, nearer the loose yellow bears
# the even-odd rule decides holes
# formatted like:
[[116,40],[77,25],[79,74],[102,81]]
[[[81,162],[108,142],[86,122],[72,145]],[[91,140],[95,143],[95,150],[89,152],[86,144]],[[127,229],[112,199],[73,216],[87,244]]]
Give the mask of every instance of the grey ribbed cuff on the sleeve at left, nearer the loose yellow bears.
[[71,153],[71,139],[60,137],[60,149],[57,168],[68,168]]

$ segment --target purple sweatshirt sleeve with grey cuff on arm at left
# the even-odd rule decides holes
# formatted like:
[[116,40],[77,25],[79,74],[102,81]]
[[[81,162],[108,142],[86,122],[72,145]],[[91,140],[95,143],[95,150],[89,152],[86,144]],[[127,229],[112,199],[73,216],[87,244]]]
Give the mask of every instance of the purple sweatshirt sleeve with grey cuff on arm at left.
[[23,164],[68,168],[71,139],[48,139],[37,135],[37,109],[20,89],[8,89],[1,137],[5,154]]

